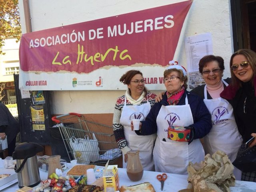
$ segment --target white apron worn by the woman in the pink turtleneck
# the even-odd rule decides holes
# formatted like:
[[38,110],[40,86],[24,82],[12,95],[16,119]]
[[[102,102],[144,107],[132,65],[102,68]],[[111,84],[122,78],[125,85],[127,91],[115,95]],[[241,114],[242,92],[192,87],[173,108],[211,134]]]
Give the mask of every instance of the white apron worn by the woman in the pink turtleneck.
[[[223,83],[228,84],[222,80]],[[231,104],[219,97],[207,99],[206,85],[204,86],[204,103],[212,116],[212,129],[204,137],[205,154],[214,154],[221,150],[228,155],[231,162],[236,159],[238,149],[242,144],[242,136],[238,132]],[[237,180],[241,178],[240,170],[234,169]]]

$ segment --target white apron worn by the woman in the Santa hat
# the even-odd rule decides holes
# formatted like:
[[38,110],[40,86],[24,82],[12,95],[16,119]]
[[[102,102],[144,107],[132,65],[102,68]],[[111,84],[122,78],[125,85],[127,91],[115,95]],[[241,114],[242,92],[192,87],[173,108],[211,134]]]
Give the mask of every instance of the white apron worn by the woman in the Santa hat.
[[193,140],[189,145],[188,142],[168,139],[167,120],[171,121],[172,126],[189,126],[194,123],[187,96],[185,105],[162,105],[156,118],[157,138],[153,156],[157,172],[188,174],[188,162],[204,160],[203,146],[199,139]]

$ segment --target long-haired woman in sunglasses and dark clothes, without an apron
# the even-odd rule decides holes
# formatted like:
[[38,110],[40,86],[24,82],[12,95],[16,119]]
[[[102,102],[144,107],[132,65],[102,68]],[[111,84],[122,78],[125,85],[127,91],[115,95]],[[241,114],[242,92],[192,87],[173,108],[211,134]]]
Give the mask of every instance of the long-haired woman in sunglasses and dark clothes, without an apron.
[[[230,102],[238,130],[244,142],[256,138],[256,53],[250,49],[240,49],[230,58],[232,82],[220,96]],[[244,144],[238,154],[244,149]],[[256,139],[249,147],[256,150]],[[255,156],[254,156],[255,160]],[[242,172],[242,180],[256,182],[256,166],[249,166]]]

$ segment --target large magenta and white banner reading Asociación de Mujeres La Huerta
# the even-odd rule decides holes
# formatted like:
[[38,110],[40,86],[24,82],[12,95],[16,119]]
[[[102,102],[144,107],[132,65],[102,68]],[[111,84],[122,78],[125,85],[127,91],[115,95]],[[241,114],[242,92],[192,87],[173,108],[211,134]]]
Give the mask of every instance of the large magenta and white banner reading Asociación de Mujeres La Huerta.
[[[191,0],[23,34],[23,90],[126,89],[119,78],[140,70],[148,89],[164,88]],[[189,19],[189,18],[188,18]]]

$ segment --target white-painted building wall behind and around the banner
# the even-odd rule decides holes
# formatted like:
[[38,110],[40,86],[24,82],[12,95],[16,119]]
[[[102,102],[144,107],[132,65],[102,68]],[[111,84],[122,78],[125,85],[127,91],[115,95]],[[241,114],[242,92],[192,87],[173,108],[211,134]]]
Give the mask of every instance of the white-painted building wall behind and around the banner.
[[[28,0],[32,31],[75,24],[118,14],[154,8],[182,0]],[[23,0],[19,0],[22,33],[26,32]],[[214,54],[222,56],[230,76],[232,32],[229,0],[194,0],[188,14],[186,36],[212,33]],[[186,66],[185,45],[182,42],[179,63]],[[142,71],[143,72],[143,71]],[[114,74],[113,74],[114,75]],[[124,90],[112,91],[52,91],[52,114],[77,112],[102,114],[100,121],[112,118],[116,98]],[[160,90],[152,90],[158,93]],[[93,117],[93,116],[92,116]]]

